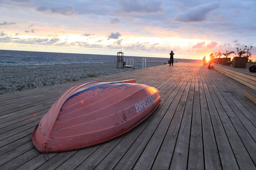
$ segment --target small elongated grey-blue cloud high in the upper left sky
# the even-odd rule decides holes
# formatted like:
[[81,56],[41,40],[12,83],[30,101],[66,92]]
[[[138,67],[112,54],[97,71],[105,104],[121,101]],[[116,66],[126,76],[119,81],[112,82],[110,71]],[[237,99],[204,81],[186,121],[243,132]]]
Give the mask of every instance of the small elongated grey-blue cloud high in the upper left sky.
[[75,8],[72,6],[49,7],[49,6],[42,5],[42,6],[39,6],[38,8],[36,8],[36,10],[38,10],[40,12],[51,11],[52,13],[61,14],[61,15],[65,15],[65,16],[70,16],[70,15],[76,14]]

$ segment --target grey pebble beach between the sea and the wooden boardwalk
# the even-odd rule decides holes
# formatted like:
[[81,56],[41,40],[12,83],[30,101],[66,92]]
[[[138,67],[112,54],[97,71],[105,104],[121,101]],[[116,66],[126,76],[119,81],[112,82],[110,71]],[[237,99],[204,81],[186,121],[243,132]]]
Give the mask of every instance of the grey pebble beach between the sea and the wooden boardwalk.
[[[147,67],[164,65],[147,62]],[[98,76],[118,74],[142,69],[142,63],[133,68],[117,68],[117,63],[84,63],[66,65],[0,66],[0,95]]]

